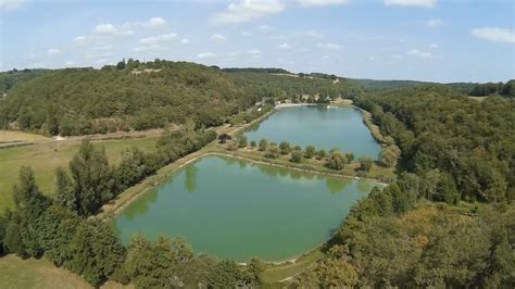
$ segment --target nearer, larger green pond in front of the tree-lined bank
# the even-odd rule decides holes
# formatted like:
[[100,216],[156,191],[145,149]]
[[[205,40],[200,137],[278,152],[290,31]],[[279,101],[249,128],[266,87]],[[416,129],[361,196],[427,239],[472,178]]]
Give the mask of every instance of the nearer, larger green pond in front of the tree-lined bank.
[[204,156],[114,221],[122,241],[184,237],[194,252],[239,262],[296,257],[326,241],[374,183]]

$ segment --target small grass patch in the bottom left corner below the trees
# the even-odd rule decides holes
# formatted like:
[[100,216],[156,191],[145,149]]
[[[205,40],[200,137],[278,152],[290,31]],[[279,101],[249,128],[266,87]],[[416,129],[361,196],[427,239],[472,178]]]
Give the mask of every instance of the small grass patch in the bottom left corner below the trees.
[[[15,255],[3,256],[0,259],[0,288],[92,288],[79,276],[55,267],[46,259],[22,260]],[[114,289],[123,286],[109,281],[101,288]]]

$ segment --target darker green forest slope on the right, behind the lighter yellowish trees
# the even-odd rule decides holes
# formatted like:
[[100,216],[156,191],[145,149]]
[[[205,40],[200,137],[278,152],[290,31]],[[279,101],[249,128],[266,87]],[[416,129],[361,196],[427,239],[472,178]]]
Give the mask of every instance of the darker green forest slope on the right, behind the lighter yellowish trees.
[[453,89],[424,87],[356,100],[402,151],[400,166],[445,179],[455,196],[437,201],[511,201],[515,198],[515,102],[470,101]]

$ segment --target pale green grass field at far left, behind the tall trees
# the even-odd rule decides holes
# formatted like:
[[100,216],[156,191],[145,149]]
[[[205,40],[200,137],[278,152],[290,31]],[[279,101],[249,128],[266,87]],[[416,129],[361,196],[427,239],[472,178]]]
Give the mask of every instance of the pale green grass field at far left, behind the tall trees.
[[[95,140],[103,146],[111,164],[120,162],[122,152],[133,146],[145,151],[155,149],[156,136],[117,140]],[[0,212],[13,208],[12,188],[17,181],[20,167],[32,166],[39,189],[52,196],[55,168],[67,168],[68,162],[78,151],[80,140],[43,141],[33,146],[0,149]]]

